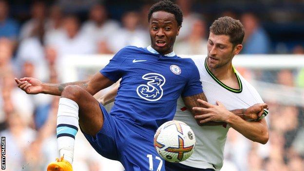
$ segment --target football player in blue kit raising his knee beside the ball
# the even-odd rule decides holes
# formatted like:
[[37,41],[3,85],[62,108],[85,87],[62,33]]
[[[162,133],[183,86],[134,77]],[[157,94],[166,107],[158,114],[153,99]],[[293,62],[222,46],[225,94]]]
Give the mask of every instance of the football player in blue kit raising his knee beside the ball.
[[[173,44],[182,26],[180,8],[169,0],[149,11],[151,46],[127,46],[90,80],[64,84],[36,78],[15,78],[27,94],[60,95],[57,144],[60,158],[47,171],[73,171],[77,125],[92,147],[104,157],[120,161],[126,171],[165,171],[153,147],[156,129],[172,120],[182,95],[192,109],[206,100],[199,72],[189,58],[177,57]],[[110,113],[93,97],[121,78]]]

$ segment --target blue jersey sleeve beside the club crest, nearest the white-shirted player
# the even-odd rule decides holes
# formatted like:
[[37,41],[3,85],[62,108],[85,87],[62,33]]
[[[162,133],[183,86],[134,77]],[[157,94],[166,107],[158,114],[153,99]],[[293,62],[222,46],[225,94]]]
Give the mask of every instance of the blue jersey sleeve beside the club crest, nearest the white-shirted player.
[[191,63],[188,66],[189,66],[189,68],[187,71],[188,71],[189,79],[184,88],[184,91],[182,92],[183,97],[203,93],[202,82],[200,81],[200,75],[199,75],[199,71],[198,71],[196,65],[191,60]]

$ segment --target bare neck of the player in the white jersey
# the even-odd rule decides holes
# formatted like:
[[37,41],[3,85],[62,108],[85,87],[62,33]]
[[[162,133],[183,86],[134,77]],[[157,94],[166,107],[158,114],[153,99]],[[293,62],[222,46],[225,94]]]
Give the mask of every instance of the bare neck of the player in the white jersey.
[[[208,63],[207,63],[208,66]],[[210,72],[217,77],[217,79],[221,80],[221,79],[226,79],[229,77],[234,77],[234,70],[232,67],[232,63],[229,62],[228,64],[221,66],[219,68],[210,68],[208,66]]]

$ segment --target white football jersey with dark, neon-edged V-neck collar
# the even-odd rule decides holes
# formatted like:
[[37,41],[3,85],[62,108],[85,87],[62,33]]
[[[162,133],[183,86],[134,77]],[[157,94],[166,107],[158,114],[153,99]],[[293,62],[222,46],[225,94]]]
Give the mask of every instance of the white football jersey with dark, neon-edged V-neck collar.
[[[222,102],[231,111],[234,109],[248,108],[256,103],[263,103],[261,96],[236,70],[240,89],[233,89],[219,81],[207,68],[206,58],[193,59],[203,86],[204,93],[211,104]],[[199,126],[194,117],[185,107],[182,98],[177,101],[174,120],[188,124],[196,137],[196,147],[189,159],[181,162],[184,165],[219,171],[223,166],[224,146],[226,143],[228,125]]]

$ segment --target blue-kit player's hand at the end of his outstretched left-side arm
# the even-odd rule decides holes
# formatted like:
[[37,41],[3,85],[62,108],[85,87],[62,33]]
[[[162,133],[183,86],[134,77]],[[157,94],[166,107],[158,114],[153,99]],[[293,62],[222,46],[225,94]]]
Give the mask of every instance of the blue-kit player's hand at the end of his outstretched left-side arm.
[[15,78],[18,87],[23,90],[26,94],[36,95],[42,93],[42,82],[36,78],[24,77]]

